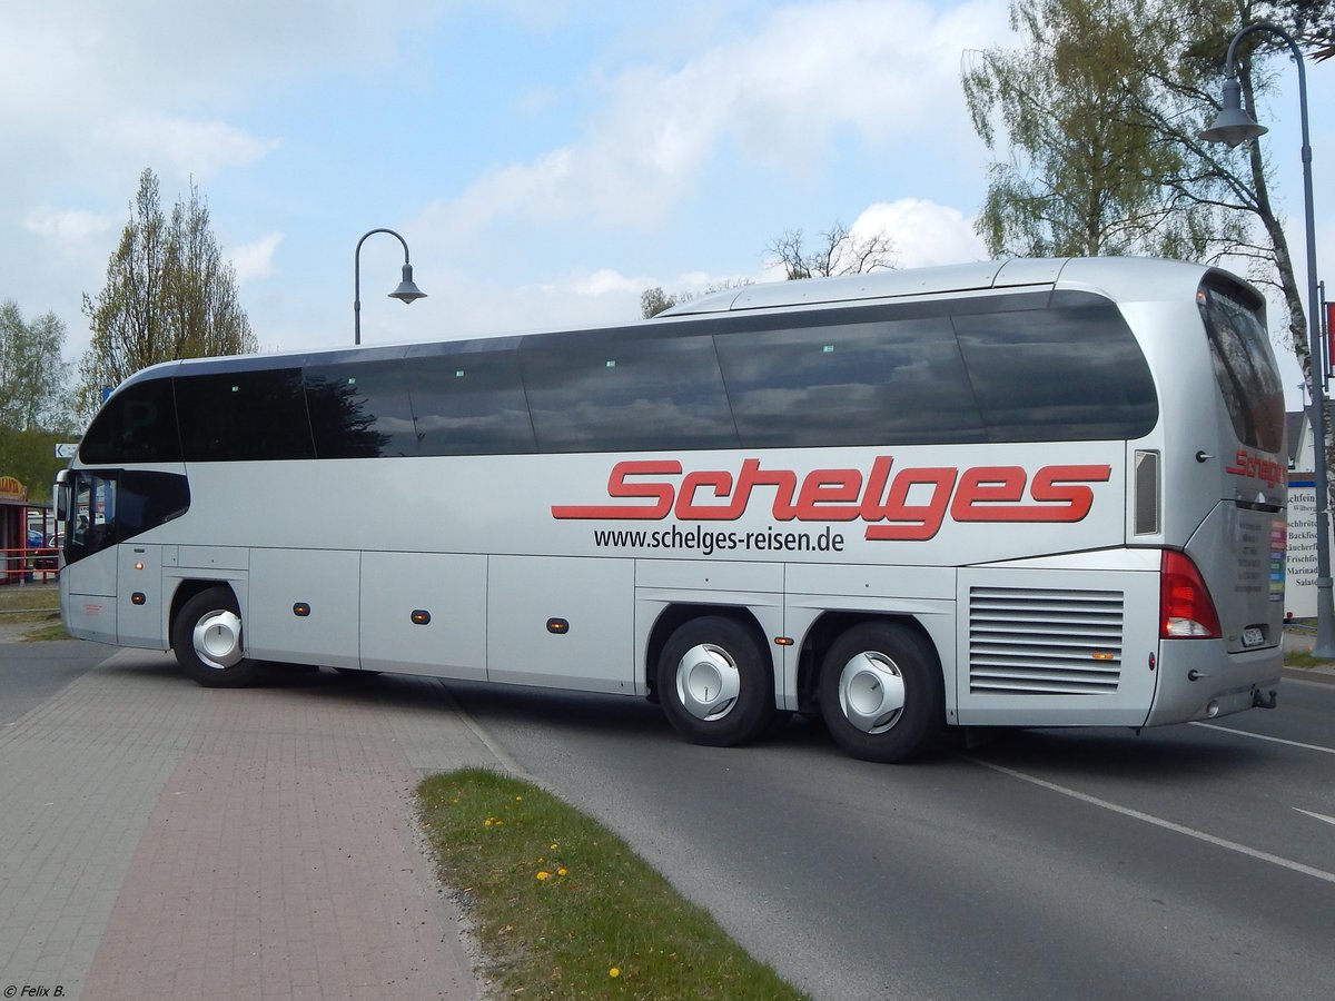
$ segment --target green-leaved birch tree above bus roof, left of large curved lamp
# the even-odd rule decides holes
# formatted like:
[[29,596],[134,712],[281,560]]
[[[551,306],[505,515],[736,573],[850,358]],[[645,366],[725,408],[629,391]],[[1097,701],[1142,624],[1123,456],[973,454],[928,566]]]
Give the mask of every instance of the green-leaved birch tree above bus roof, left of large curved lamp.
[[1165,184],[1192,153],[1145,113],[1167,100],[1149,72],[1164,41],[1180,60],[1197,24],[1163,0],[1012,0],[1011,24],[1021,47],[973,53],[964,72],[975,131],[989,148],[1009,140],[977,224],[991,254],[1203,259],[1242,238],[1216,183]]

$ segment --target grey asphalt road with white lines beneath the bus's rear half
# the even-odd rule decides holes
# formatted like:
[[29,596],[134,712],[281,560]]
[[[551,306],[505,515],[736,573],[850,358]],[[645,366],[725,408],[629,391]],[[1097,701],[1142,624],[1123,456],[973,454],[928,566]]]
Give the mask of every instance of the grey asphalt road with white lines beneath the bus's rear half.
[[909,766],[798,722],[681,743],[617,698],[451,685],[817,998],[1330,998],[1335,687],[1216,725],[1028,731]]

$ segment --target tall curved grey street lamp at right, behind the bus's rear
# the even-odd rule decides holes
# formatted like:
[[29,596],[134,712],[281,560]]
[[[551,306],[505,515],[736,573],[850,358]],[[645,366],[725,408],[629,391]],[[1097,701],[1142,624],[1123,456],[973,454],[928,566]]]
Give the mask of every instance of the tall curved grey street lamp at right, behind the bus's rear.
[[[1238,43],[1252,32],[1264,31],[1283,39],[1294,53],[1298,64],[1298,100],[1303,124],[1303,210],[1307,222],[1307,347],[1320,350],[1322,327],[1318,316],[1316,298],[1316,214],[1312,211],[1312,144],[1307,128],[1307,69],[1303,65],[1303,52],[1298,43],[1274,24],[1248,24],[1234,35],[1228,43],[1228,59],[1224,64],[1223,108],[1215,124],[1200,133],[1211,143],[1227,143],[1234,147],[1266,135],[1268,131],[1252,120],[1242,107],[1242,87],[1238,83],[1235,55]],[[1316,645],[1312,655],[1326,659],[1335,658],[1335,602],[1331,598],[1331,531],[1330,531],[1330,486],[1326,480],[1326,386],[1320,374],[1319,356],[1308,364],[1308,388],[1312,398],[1312,472],[1316,478]]]

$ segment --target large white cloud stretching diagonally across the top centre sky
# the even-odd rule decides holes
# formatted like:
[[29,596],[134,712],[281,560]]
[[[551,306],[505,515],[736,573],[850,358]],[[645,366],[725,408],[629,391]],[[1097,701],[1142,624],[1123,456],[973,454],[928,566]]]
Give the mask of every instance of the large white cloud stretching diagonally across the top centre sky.
[[781,8],[757,33],[677,68],[609,76],[606,105],[578,141],[493,168],[430,206],[425,227],[457,244],[506,218],[651,228],[728,151],[750,170],[804,176],[845,133],[865,156],[902,156],[896,145],[909,141],[947,155],[930,135],[964,115],[960,53],[1003,23],[993,0],[944,15],[917,0]]

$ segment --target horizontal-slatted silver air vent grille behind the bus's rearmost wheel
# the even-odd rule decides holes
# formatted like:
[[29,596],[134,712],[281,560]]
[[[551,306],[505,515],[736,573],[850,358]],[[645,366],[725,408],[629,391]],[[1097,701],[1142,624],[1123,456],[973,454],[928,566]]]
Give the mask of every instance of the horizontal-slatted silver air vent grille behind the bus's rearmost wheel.
[[969,589],[969,691],[1099,695],[1121,677],[1120,591]]

